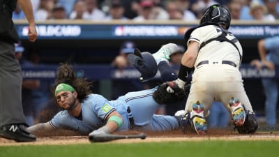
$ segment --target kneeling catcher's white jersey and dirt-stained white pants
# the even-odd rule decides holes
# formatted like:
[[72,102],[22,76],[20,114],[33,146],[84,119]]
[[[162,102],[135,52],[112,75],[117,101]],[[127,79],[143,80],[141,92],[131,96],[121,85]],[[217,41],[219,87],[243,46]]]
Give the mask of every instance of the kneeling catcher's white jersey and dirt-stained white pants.
[[221,101],[229,110],[229,99],[232,96],[239,98],[246,109],[252,111],[239,71],[242,56],[239,40],[227,32],[225,38],[234,44],[213,40],[201,47],[203,42],[216,38],[223,32],[225,30],[218,26],[207,25],[195,29],[190,34],[187,45],[191,40],[199,43],[199,53],[194,65],[195,70],[186,111],[192,110],[193,103],[199,101],[204,104],[206,116],[214,100]]

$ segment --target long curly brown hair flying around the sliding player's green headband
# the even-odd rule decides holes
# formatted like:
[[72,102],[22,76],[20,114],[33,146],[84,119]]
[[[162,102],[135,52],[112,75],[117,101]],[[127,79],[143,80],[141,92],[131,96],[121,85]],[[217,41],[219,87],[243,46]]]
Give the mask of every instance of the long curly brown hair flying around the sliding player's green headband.
[[54,89],[61,83],[70,84],[77,91],[77,99],[80,102],[93,93],[92,82],[89,82],[86,78],[78,78],[76,71],[68,63],[61,63],[61,66],[57,68]]

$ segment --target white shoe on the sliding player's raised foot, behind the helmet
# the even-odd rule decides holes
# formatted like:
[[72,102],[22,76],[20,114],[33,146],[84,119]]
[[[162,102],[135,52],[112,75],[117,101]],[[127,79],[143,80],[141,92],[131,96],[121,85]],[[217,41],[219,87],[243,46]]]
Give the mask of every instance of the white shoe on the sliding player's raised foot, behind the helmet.
[[153,53],[153,57],[155,58],[156,62],[159,63],[160,61],[169,61],[169,56],[172,55],[174,52],[177,52],[179,48],[174,43],[168,43],[160,47],[156,53]]

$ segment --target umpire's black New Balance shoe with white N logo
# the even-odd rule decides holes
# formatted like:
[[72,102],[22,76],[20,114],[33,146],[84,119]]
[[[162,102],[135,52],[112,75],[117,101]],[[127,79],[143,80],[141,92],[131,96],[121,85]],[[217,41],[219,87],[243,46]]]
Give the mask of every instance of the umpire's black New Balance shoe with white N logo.
[[0,137],[4,137],[16,142],[33,142],[36,136],[25,130],[24,124],[10,124],[1,126]]

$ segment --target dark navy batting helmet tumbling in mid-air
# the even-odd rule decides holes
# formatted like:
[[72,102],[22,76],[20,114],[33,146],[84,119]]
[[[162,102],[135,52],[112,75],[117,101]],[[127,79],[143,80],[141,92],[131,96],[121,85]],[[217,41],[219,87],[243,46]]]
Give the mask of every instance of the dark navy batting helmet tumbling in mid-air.
[[157,73],[158,66],[156,60],[149,52],[140,52],[140,50],[135,48],[134,54],[128,54],[128,61],[142,74],[140,77],[141,82],[146,82]]

